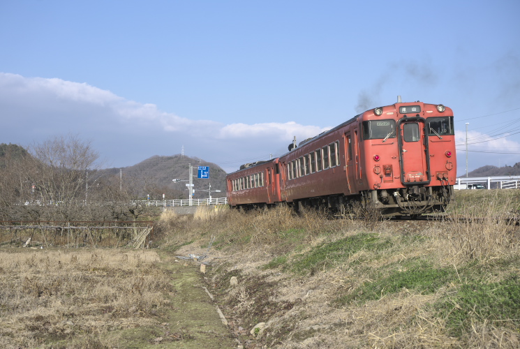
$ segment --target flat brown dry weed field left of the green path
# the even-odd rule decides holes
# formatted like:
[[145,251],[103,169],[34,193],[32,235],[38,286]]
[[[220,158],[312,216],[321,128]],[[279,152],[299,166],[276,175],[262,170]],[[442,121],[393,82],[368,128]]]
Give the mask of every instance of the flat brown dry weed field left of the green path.
[[108,332],[149,324],[171,292],[152,251],[0,252],[0,343],[114,346]]

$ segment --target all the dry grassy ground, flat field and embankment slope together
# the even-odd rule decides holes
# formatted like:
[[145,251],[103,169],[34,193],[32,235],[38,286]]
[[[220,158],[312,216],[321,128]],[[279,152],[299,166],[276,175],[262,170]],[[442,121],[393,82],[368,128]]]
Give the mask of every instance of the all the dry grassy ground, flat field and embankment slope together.
[[[165,211],[156,248],[6,247],[0,344],[518,348],[519,198],[461,191],[431,221],[205,207]],[[207,274],[174,258],[188,254],[208,255]]]

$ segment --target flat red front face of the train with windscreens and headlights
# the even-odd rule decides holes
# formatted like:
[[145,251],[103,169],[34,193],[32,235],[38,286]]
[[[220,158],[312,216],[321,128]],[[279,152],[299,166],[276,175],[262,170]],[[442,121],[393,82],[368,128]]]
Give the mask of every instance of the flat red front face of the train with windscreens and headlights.
[[360,181],[358,188],[366,200],[386,215],[443,211],[456,179],[452,110],[396,103],[366,111],[358,120],[359,168],[366,169],[366,183]]

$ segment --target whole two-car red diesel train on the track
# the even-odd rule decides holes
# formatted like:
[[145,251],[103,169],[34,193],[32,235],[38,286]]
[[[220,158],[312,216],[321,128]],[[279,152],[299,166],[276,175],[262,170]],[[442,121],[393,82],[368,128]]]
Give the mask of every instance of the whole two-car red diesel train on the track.
[[453,112],[417,101],[367,110],[279,158],[242,165],[228,174],[227,195],[231,207],[344,212],[360,202],[386,216],[417,216],[443,211],[455,179]]

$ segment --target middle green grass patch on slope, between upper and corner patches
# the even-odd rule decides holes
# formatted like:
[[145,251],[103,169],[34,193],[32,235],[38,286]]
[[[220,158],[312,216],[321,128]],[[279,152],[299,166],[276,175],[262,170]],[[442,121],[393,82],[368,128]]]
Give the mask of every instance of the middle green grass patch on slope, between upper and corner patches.
[[392,266],[383,267],[373,276],[373,281],[363,283],[348,295],[336,299],[334,303],[345,305],[352,301],[366,302],[380,299],[385,295],[400,292],[403,288],[429,294],[436,292],[438,288],[450,281],[458,280],[454,269],[435,268],[426,260],[408,260],[400,265],[399,269],[382,276],[385,269],[392,269]]

